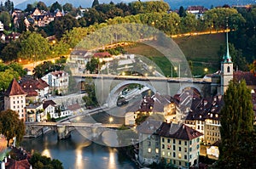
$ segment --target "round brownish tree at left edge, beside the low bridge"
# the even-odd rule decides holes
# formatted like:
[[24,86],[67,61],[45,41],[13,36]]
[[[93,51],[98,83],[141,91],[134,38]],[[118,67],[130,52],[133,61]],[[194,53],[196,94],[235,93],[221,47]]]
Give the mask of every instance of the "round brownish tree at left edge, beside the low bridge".
[[17,143],[20,143],[25,134],[24,121],[19,119],[19,115],[14,110],[4,110],[0,113],[0,131],[9,145],[9,141],[16,137]]

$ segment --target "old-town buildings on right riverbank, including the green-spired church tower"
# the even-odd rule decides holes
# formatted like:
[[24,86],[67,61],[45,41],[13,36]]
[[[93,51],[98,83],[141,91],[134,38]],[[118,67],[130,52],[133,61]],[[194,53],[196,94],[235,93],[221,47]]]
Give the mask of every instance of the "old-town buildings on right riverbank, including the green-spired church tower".
[[[228,37],[227,53],[223,56],[220,72],[212,76],[212,84],[215,78],[220,84],[213,97],[203,98],[196,88],[187,87],[173,97],[159,93],[146,96],[141,103],[127,109],[130,112],[125,114],[126,125],[136,124],[140,115],[149,116],[142,124],[137,124],[137,159],[143,166],[160,161],[179,168],[198,166],[201,144],[207,146],[204,155],[218,159],[220,110],[224,106],[223,95],[230,80],[246,80],[247,87],[252,91],[253,110],[256,112],[256,76],[251,72],[233,72]],[[163,118],[159,118],[160,115]]]

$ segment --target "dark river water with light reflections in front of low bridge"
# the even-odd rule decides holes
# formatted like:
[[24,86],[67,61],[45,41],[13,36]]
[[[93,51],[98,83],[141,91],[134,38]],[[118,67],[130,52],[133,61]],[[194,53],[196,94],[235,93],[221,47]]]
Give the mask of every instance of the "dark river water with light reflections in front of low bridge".
[[38,138],[26,138],[21,146],[62,162],[65,169],[133,169],[136,164],[118,149],[95,144],[78,131],[72,137],[58,140],[57,133],[48,132]]

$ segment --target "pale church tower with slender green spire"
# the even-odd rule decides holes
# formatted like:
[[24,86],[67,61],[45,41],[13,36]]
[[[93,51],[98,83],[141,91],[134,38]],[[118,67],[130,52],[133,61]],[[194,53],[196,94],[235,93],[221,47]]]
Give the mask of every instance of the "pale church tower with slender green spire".
[[228,89],[229,82],[233,79],[233,62],[230,57],[228,31],[226,32],[226,46],[227,52],[221,61],[220,93],[222,95],[224,95]]

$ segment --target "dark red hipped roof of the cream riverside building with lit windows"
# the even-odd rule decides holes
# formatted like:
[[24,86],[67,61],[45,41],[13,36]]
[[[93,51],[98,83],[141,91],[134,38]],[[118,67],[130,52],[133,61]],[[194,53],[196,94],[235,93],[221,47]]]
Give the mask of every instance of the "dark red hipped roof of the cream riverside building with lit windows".
[[166,122],[162,123],[160,128],[157,130],[157,133],[162,137],[183,140],[191,140],[203,135],[201,132],[197,132],[195,129],[188,127],[184,124]]

